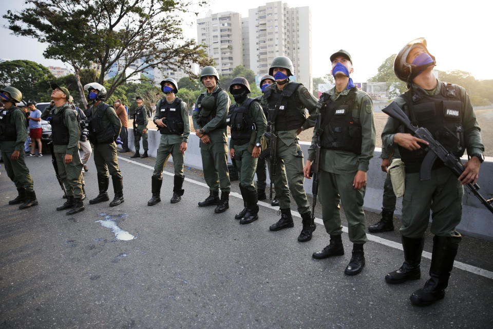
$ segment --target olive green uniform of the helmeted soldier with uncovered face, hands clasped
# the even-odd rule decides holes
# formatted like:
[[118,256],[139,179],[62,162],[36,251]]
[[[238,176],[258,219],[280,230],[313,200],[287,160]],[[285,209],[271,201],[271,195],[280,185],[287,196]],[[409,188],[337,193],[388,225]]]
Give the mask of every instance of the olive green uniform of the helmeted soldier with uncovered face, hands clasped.
[[[214,93],[219,94],[215,103],[216,116],[202,126],[197,120],[204,109],[200,111],[194,109],[192,120],[194,122],[194,128],[196,130],[201,129],[211,140],[211,143],[208,144],[204,144],[200,140],[200,154],[202,156],[202,167],[207,186],[211,192],[217,192],[221,188],[221,192],[229,193],[231,182],[230,174],[227,171],[227,131],[225,123],[227,111],[230,107],[230,98],[224,90],[218,89],[219,87],[216,86],[212,93],[208,93],[207,90],[202,93],[204,95],[202,102],[204,102],[205,97],[213,97]],[[198,103],[199,99],[197,98],[196,104]]]

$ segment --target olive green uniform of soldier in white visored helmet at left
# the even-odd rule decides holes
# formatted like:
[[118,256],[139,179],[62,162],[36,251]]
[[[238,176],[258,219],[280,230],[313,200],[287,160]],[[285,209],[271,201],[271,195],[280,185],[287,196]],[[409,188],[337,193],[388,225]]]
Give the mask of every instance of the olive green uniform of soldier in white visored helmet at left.
[[[103,102],[99,103],[98,106],[91,107],[92,120],[96,120],[96,113],[102,106],[105,106]],[[120,134],[122,122],[120,121],[120,118],[118,118],[113,106],[110,105],[106,108],[101,121],[102,126],[106,126],[108,123],[111,123],[113,136],[115,136],[116,139],[116,136]],[[93,154],[94,165],[96,165],[96,170],[98,171],[99,176],[109,177],[109,175],[111,175],[119,178],[123,177],[120,168],[118,167],[117,144],[115,142],[94,144]]]

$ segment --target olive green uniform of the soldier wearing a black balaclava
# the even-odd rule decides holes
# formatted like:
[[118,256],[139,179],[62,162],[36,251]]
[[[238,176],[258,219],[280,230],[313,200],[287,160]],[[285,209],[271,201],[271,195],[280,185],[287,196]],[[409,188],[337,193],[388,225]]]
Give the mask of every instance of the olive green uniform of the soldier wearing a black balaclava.
[[[236,104],[241,106],[241,104]],[[251,121],[255,123],[257,128],[255,139],[252,142],[244,144],[235,144],[234,140],[230,140],[230,149],[234,149],[235,166],[239,173],[239,184],[248,191],[255,192],[255,185],[253,184],[253,178],[255,176],[255,170],[257,168],[257,159],[252,157],[253,147],[256,143],[260,143],[260,139],[266,132],[267,120],[263,114],[262,106],[256,101],[250,103],[248,108],[248,116]]]

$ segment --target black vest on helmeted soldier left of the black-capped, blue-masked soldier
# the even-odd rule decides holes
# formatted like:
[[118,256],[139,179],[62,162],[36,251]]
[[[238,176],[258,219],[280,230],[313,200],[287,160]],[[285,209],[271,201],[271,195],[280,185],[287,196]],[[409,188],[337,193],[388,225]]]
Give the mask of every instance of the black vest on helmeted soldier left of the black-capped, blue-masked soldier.
[[280,93],[273,93],[272,88],[266,90],[264,96],[269,104],[269,121],[275,122],[276,131],[298,129],[305,123],[305,107],[295,94],[299,85],[301,83],[290,82]]

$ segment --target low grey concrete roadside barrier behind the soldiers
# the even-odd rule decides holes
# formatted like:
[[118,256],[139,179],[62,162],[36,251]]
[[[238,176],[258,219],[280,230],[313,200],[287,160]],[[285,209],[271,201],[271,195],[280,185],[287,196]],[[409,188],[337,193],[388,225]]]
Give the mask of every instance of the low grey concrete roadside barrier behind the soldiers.
[[[156,157],[157,148],[161,134],[150,129],[148,135],[149,156]],[[304,154],[308,154],[309,142],[300,142],[301,150]],[[130,127],[128,129],[128,146],[132,151],[134,147],[134,134]],[[141,141],[141,150],[142,141]],[[141,151],[142,153],[142,151]],[[370,160],[370,168],[367,174],[367,187],[365,194],[364,208],[368,211],[380,212],[382,209],[382,194],[385,180],[385,173],[380,169],[380,154],[382,149],[376,148],[373,158]],[[463,157],[463,162],[467,160]],[[172,161],[172,158],[169,158]],[[185,166],[202,170],[202,159],[200,156],[199,138],[195,133],[191,133],[188,138],[187,150],[185,152]],[[229,159],[231,161],[231,159]],[[493,157],[486,157],[481,165],[479,173],[478,185],[481,187],[481,194],[486,198],[493,197]],[[269,177],[268,177],[269,181]],[[307,194],[312,194],[312,181],[305,179],[304,184]],[[488,240],[493,240],[493,214],[489,212],[481,202],[472,194],[468,188],[464,189],[462,222],[457,227],[459,232],[467,235],[485,237]],[[400,217],[402,212],[402,198],[397,198],[396,209],[394,215]],[[430,215],[431,216],[431,215]],[[431,218],[431,217],[430,217]]]

